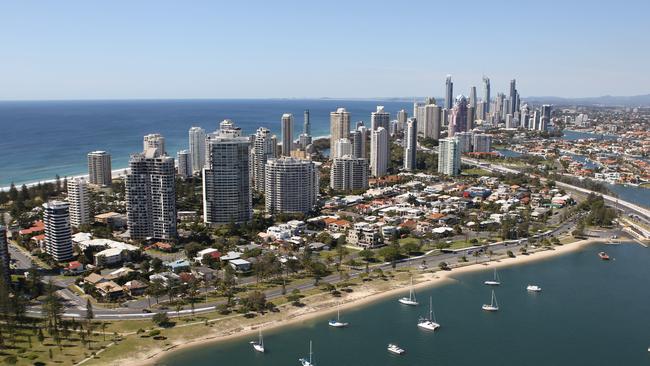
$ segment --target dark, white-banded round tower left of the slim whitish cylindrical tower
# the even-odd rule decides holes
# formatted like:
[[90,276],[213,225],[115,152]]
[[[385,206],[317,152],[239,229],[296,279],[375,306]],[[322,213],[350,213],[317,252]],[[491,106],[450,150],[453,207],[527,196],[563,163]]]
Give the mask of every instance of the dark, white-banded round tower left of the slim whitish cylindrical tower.
[[43,204],[45,224],[45,252],[57,262],[72,259],[72,229],[69,205],[62,201]]

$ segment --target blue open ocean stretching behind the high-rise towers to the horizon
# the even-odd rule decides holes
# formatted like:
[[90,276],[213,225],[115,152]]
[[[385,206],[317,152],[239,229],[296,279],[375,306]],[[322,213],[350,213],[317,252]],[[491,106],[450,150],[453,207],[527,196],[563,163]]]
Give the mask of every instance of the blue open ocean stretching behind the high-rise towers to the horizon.
[[280,117],[293,113],[295,137],[302,133],[303,111],[310,110],[313,136],[329,134],[329,113],[345,107],[353,123],[365,121],[377,105],[395,118],[409,102],[361,100],[133,100],[0,102],[0,187],[87,173],[86,154],[106,150],[113,169],[127,166],[142,150],[142,136],[161,133],[167,152],[188,147],[187,131],[217,129],[232,119],[246,134],[264,126],[280,135]]

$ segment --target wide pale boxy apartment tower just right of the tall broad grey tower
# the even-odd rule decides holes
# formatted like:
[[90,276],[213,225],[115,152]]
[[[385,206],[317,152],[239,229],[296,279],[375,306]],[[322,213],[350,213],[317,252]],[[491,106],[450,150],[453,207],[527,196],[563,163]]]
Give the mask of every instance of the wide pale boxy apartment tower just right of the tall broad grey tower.
[[318,168],[310,160],[269,159],[264,198],[270,213],[308,213],[318,196]]

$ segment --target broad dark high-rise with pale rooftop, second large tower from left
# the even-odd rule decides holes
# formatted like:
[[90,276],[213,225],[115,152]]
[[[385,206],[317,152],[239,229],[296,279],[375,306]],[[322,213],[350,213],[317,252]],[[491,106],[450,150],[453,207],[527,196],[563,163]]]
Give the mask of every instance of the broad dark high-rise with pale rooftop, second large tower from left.
[[174,158],[150,146],[131,155],[126,175],[126,218],[131,239],[176,238]]

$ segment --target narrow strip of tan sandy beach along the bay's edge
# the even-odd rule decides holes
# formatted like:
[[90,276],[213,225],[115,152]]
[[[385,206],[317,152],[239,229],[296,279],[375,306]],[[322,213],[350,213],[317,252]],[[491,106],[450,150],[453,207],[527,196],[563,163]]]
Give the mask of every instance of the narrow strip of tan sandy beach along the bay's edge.
[[[552,247],[553,249],[550,250],[541,250],[527,255],[519,254],[515,258],[506,257],[501,259],[495,259],[493,261],[486,261],[486,262],[479,262],[479,263],[470,262],[467,265],[454,268],[450,271],[437,270],[435,272],[418,272],[414,276],[414,280],[416,282],[414,283],[413,288],[415,290],[432,288],[435,286],[440,286],[440,285],[454,282],[455,281],[454,277],[456,275],[483,271],[488,268],[490,269],[502,268],[502,267],[508,267],[514,265],[523,265],[531,262],[538,262],[541,260],[578,251],[588,245],[592,245],[595,243],[605,243],[605,242],[606,240],[604,239],[591,238],[591,239],[580,240],[574,243],[564,244],[561,246],[555,246]],[[341,299],[332,298],[332,299],[328,299],[329,301],[321,302],[320,304],[322,307],[321,309],[313,309],[311,311],[306,311],[304,313],[300,313],[298,311],[298,314],[295,314],[293,316],[291,316],[291,314],[285,314],[284,317],[281,317],[280,319],[277,320],[266,321],[266,322],[262,321],[259,323],[248,325],[241,329],[226,331],[224,334],[209,335],[198,339],[187,340],[185,342],[178,342],[166,348],[154,350],[153,353],[144,355],[144,358],[127,357],[125,359],[115,360],[115,361],[119,361],[119,363],[123,365],[153,366],[156,365],[157,362],[161,361],[162,359],[171,355],[174,352],[179,352],[181,350],[188,350],[195,347],[202,347],[208,344],[217,344],[220,342],[225,342],[225,341],[234,340],[238,338],[243,339],[245,337],[255,336],[257,334],[257,330],[260,327],[264,327],[266,331],[276,330],[282,327],[295,326],[297,324],[306,321],[310,321],[319,317],[326,316],[328,314],[335,313],[336,310],[334,309],[334,307],[323,306],[323,305],[327,305],[328,302],[340,302],[339,309],[346,310],[346,309],[367,306],[373,302],[380,301],[388,297],[397,297],[399,294],[403,294],[406,290],[407,288],[404,287],[404,285],[395,282],[391,284],[390,289],[385,291],[379,290],[373,292],[371,290],[366,290],[366,291],[361,291],[360,293],[356,293],[355,291],[352,292],[350,295],[343,297]],[[314,306],[318,306],[318,304],[315,304]]]

